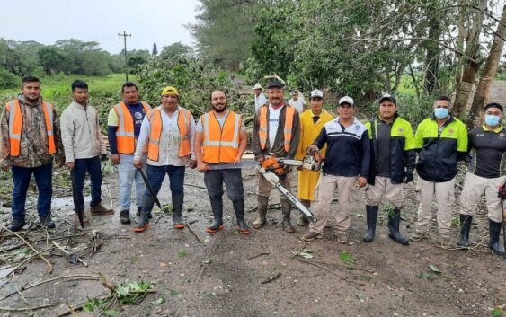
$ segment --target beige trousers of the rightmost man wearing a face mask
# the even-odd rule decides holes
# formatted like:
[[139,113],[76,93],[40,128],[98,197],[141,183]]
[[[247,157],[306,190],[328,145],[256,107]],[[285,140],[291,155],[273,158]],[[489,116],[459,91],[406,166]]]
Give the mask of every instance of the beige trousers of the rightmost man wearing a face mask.
[[485,179],[467,172],[464,189],[460,196],[460,214],[474,216],[478,203],[485,195],[488,218],[496,223],[502,222],[501,198],[497,196],[499,188],[506,181],[506,176]]

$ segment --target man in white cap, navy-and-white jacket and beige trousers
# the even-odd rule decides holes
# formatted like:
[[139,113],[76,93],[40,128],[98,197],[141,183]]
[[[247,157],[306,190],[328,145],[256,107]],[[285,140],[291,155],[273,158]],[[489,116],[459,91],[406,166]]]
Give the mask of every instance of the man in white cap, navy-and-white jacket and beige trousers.
[[313,153],[327,145],[324,169],[316,187],[315,216],[318,220],[309,224],[309,233],[302,236],[305,241],[322,238],[333,193],[337,188],[339,207],[335,213],[336,236],[338,242],[347,243],[353,187],[364,187],[368,183],[368,129],[353,116],[355,107],[351,97],[341,98],[337,113],[339,116],[325,123],[314,144],[308,148],[308,152]]

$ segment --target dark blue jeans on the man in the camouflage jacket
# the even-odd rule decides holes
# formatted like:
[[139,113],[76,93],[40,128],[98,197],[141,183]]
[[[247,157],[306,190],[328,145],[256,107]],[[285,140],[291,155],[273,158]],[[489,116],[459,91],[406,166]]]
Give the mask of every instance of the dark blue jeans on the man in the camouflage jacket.
[[15,220],[24,220],[26,210],[26,192],[30,184],[31,174],[35,177],[37,189],[39,189],[39,198],[37,199],[37,212],[40,218],[45,218],[51,211],[51,197],[53,188],[51,186],[53,164],[42,165],[39,167],[20,167],[12,166],[13,172],[13,206],[12,213]]

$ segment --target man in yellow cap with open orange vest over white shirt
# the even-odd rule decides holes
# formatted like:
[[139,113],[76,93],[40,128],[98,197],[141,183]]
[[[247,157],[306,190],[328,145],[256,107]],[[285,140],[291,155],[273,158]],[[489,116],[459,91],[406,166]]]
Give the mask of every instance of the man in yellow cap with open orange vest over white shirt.
[[[142,168],[142,157],[147,148],[147,181],[155,191],[162,187],[165,174],[169,176],[173,198],[173,227],[183,229],[182,202],[185,165],[195,168],[193,159],[193,136],[195,121],[190,110],[179,104],[179,92],[168,86],[162,91],[162,104],[150,110],[144,117],[138,144],[134,154],[134,166]],[[142,199],[140,220],[134,231],[141,233],[149,227],[148,218],[155,204],[155,198],[146,189]]]

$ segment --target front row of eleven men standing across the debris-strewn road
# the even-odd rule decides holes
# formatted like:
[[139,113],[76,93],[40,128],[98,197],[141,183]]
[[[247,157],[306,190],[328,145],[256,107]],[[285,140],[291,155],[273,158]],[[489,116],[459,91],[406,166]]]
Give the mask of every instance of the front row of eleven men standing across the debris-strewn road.
[[[254,88],[262,90],[262,87]],[[255,91],[256,92],[256,91]],[[97,111],[87,104],[88,87],[82,81],[72,84],[73,101],[63,111],[61,120],[54,107],[40,97],[40,80],[25,77],[22,93],[6,104],[0,128],[2,133],[1,167],[13,172],[13,231],[25,225],[24,203],[31,174],[39,189],[38,213],[40,222],[49,228],[51,219],[52,162],[67,164],[75,191],[75,211],[84,211],[83,185],[85,172],[92,183],[92,215],[107,215],[111,209],[101,204],[102,172],[100,161],[106,150],[98,124]],[[310,94],[310,109],[300,115],[284,101],[284,84],[274,79],[267,86],[268,98],[258,106],[253,121],[252,149],[255,160],[264,163],[271,158],[302,159],[316,151],[324,157],[322,172],[298,171],[298,198],[310,207],[315,201],[315,223],[309,224],[303,240],[312,241],[323,236],[330,220],[330,204],[337,189],[338,208],[333,213],[337,241],[348,242],[351,225],[354,188],[366,189],[367,231],[364,242],[373,242],[379,205],[383,199],[393,208],[388,213],[389,237],[400,244],[409,240],[399,231],[403,183],[413,181],[418,173],[417,189],[420,206],[415,233],[410,240],[419,241],[429,230],[431,201],[437,199],[437,219],[440,242],[450,242],[451,205],[457,175],[457,161],[471,154],[471,163],[461,196],[461,238],[458,244],[467,248],[468,236],[477,203],[485,194],[490,229],[489,246],[496,254],[503,254],[499,245],[502,224],[501,199],[497,188],[506,180],[504,164],[506,135],[502,128],[502,105],[490,103],[484,108],[484,126],[467,133],[465,125],[449,114],[450,100],[441,96],[434,102],[433,113],[424,119],[413,135],[411,124],[397,114],[394,96],[384,95],[378,104],[377,118],[361,123],[355,116],[356,105],[349,96],[339,101],[338,117],[323,110],[324,93]],[[255,93],[256,99],[260,98]],[[215,165],[237,164],[247,145],[241,115],[227,108],[226,92],[210,94],[211,110],[197,123],[191,111],[179,105],[180,94],[175,87],[165,87],[161,104],[151,109],[140,101],[136,84],[122,86],[122,99],[112,107],[108,118],[108,138],[111,161],[119,164],[120,222],[129,224],[130,196],[136,184],[136,206],[139,222],[136,232],[149,226],[151,210],[161,189],[164,176],[169,176],[173,207],[173,226],[182,229],[185,167],[198,168],[204,173],[214,222],[206,228],[217,233],[223,224],[223,184],[232,201],[237,231],[250,233],[244,220],[244,188],[241,170],[221,169]],[[60,122],[61,121],[61,122]],[[416,158],[418,154],[418,159]],[[147,175],[147,189],[143,184]],[[280,180],[290,188],[293,173]],[[267,224],[267,209],[271,182],[258,172],[258,218],[254,229]],[[281,195],[282,227],[294,233],[291,224],[292,205]],[[304,217],[297,225],[306,225]]]

